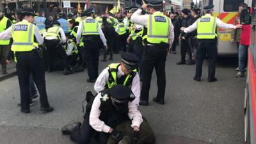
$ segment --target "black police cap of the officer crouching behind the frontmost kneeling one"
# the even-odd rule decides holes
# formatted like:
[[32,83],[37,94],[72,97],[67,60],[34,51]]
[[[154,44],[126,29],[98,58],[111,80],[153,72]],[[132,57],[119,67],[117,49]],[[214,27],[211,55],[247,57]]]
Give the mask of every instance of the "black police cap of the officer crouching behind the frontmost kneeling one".
[[127,69],[133,70],[134,68],[136,68],[139,58],[131,52],[124,52],[121,55],[121,60]]

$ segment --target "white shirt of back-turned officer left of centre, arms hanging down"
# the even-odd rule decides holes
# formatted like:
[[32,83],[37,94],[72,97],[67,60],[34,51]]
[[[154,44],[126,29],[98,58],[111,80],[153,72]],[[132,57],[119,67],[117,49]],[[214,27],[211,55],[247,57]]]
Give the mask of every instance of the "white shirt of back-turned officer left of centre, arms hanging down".
[[[88,18],[93,19],[92,17],[88,17]],[[79,23],[79,26],[78,26],[78,29],[77,29],[77,36],[76,36],[76,43],[77,44],[80,43],[80,39],[81,39],[81,36],[82,36],[82,31],[83,31],[83,20]],[[104,46],[107,46],[107,40],[104,36],[104,33],[102,32],[100,24],[98,26],[98,31],[99,31],[100,39],[102,40]]]

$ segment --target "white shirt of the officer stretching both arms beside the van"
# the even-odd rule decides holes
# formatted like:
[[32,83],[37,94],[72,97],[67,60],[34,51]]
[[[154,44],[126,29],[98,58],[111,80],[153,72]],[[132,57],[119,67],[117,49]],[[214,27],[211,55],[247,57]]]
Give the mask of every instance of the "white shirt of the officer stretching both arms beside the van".
[[[205,15],[211,16],[209,13],[207,13]],[[197,21],[198,20],[200,20],[200,19],[197,19],[191,26],[189,26],[188,28],[184,29],[184,33],[190,33],[191,31],[195,31],[195,29],[197,27]],[[234,26],[233,24],[226,24],[226,23],[224,23],[222,20],[220,20],[217,17],[216,17],[216,24],[221,29],[236,29],[236,26]]]

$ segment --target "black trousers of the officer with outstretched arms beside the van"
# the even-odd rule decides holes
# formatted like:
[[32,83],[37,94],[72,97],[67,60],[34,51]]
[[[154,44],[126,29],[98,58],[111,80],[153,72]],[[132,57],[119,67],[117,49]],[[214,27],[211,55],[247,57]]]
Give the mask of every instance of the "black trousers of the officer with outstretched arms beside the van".
[[200,79],[202,76],[202,65],[204,58],[208,57],[208,80],[215,77],[215,61],[218,58],[216,40],[199,40],[196,47],[196,74],[195,78]]

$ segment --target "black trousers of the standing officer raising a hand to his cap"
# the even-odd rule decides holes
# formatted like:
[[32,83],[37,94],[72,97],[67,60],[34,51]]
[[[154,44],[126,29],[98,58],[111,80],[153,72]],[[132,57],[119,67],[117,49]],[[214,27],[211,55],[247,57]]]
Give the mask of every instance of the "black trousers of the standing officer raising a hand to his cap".
[[147,45],[142,60],[143,80],[141,86],[141,97],[143,101],[148,101],[150,81],[153,69],[156,69],[157,76],[157,99],[164,100],[166,77],[165,77],[165,61],[167,55],[167,47],[160,45]]

